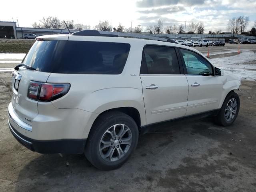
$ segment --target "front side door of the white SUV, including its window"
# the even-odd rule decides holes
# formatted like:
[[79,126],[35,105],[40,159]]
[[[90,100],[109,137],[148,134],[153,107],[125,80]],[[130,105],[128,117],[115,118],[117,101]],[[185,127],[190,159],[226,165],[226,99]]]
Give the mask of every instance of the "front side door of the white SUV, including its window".
[[186,116],[218,109],[222,94],[221,76],[214,76],[212,65],[198,53],[180,49],[188,80]]

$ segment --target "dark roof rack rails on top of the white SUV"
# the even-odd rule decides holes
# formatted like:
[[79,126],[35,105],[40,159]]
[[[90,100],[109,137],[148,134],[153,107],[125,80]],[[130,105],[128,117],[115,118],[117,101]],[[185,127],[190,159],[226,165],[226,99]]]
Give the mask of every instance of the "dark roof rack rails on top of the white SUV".
[[174,40],[167,38],[159,38],[142,34],[134,34],[134,33],[121,33],[121,32],[109,32],[109,31],[98,31],[98,30],[82,30],[78,32],[74,32],[71,35],[79,35],[79,36],[103,36],[103,37],[128,37],[128,38],[140,38],[140,39],[148,39],[148,40],[157,40],[164,41],[170,43],[177,43]]

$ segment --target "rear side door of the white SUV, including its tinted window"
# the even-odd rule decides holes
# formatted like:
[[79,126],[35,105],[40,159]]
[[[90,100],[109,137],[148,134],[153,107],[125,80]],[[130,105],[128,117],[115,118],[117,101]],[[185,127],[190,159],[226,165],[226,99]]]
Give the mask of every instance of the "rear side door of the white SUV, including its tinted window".
[[175,48],[146,45],[143,49],[140,78],[147,124],[185,115],[188,82],[180,70]]

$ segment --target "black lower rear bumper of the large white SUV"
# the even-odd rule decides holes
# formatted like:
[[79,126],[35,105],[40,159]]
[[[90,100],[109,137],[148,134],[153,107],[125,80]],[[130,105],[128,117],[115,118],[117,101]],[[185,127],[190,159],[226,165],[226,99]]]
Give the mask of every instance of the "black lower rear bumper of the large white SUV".
[[79,154],[84,152],[84,146],[86,139],[63,139],[63,140],[33,140],[22,134],[20,134],[11,125],[8,119],[8,125],[14,138],[20,142],[26,148],[36,151],[38,153],[68,153],[68,154]]

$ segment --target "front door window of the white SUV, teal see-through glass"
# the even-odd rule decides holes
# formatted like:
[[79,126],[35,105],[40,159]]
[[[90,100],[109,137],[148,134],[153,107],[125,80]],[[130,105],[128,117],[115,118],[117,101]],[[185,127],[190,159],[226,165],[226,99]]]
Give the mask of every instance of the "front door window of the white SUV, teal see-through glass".
[[180,49],[188,75],[213,75],[212,66],[199,54]]

